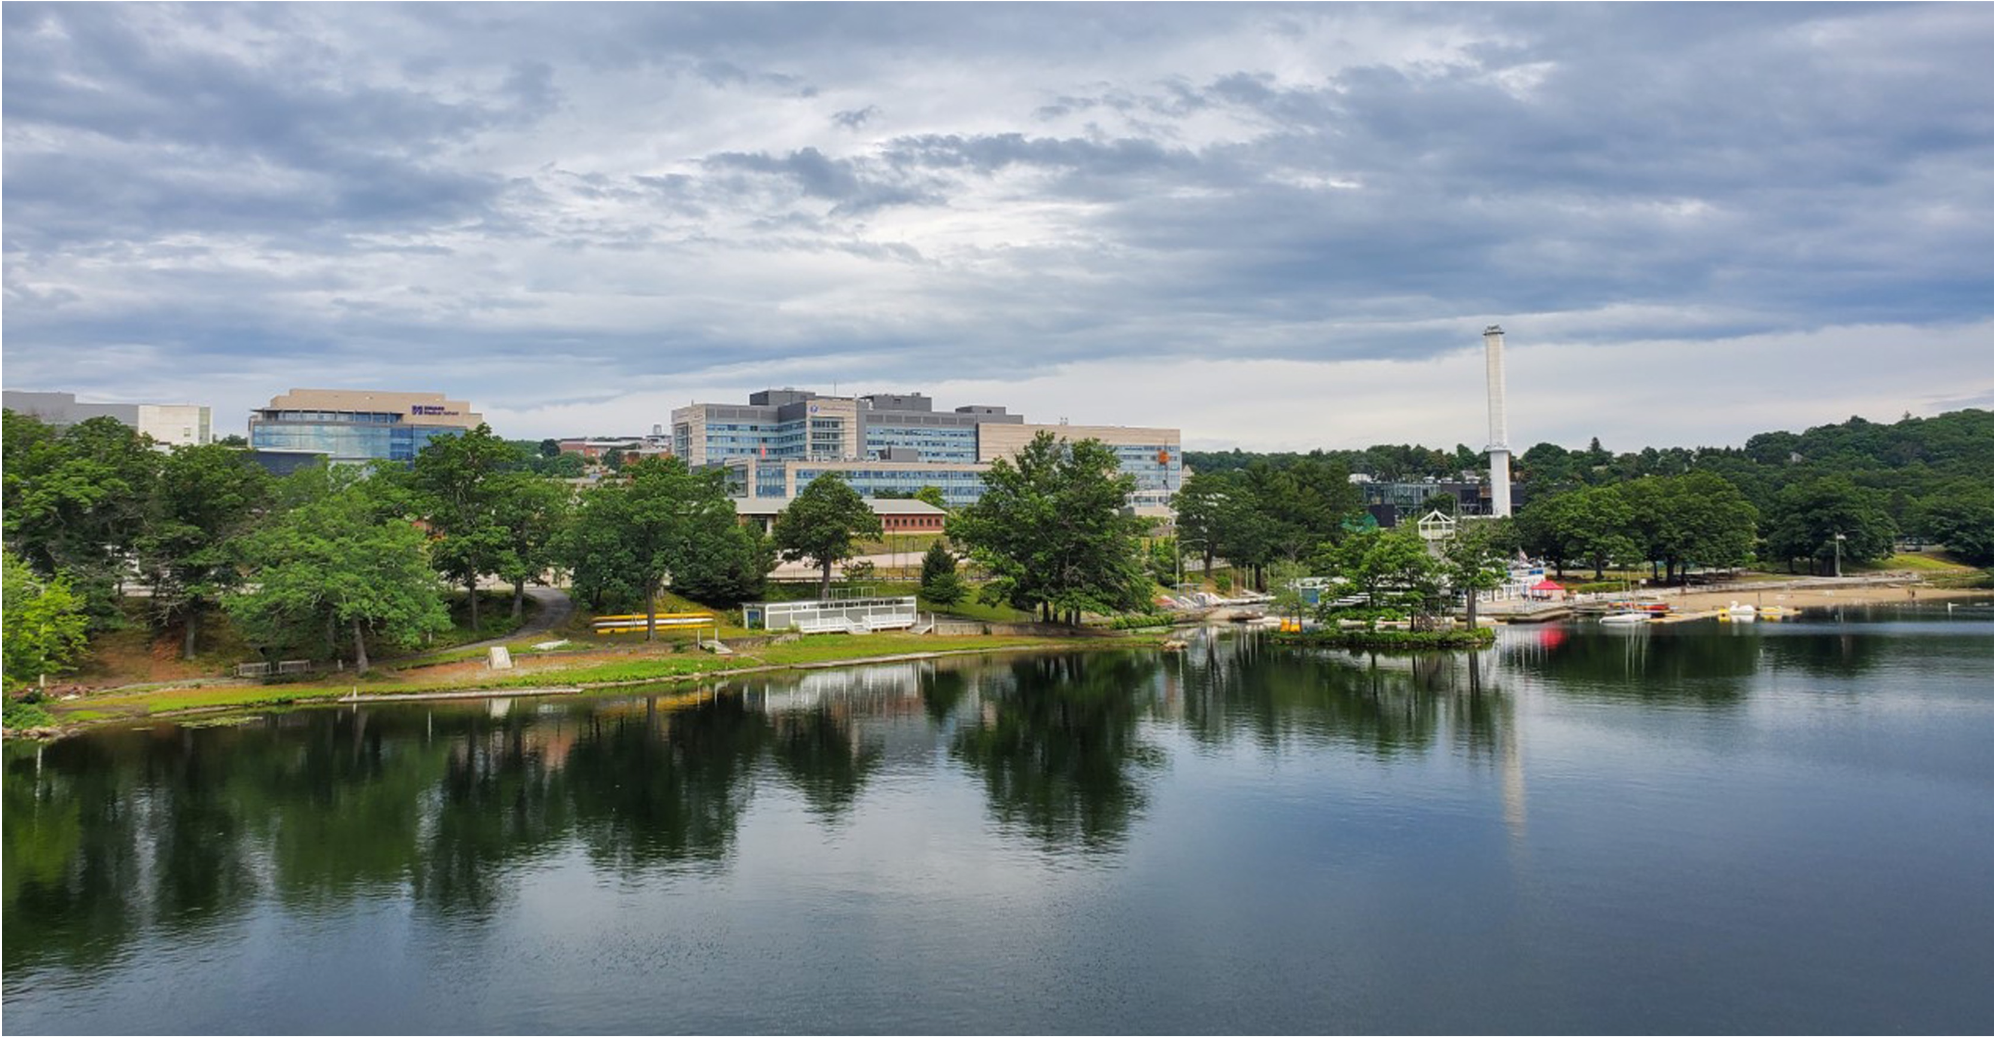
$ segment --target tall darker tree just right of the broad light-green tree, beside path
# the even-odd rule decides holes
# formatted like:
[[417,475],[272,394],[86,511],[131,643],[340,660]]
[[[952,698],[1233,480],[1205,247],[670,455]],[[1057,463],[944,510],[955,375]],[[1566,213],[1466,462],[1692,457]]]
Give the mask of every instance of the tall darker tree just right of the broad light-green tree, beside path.
[[472,631],[480,631],[480,577],[498,573],[515,541],[501,507],[507,495],[519,495],[519,485],[507,477],[521,465],[519,449],[480,423],[432,439],[402,479],[416,515],[430,525],[438,571],[466,589]]

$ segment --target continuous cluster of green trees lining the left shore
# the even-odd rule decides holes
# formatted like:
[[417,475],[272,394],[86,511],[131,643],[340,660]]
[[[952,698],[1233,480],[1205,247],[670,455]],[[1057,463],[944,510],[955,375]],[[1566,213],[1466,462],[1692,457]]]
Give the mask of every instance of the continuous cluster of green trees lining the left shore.
[[[466,591],[480,633],[478,589],[492,579],[511,585],[517,619],[525,587],[553,569],[593,607],[649,607],[667,575],[689,597],[735,603],[775,565],[767,539],[735,523],[721,475],[677,459],[577,493],[539,471],[545,455],[482,425],[408,467],[272,479],[240,449],[156,451],[114,419],[60,433],[12,411],[4,423],[10,687],[124,625],[126,593],[186,657],[220,609],[266,655],[352,655],[366,669],[370,649],[450,631],[448,587]],[[36,635],[46,629],[58,635]]]

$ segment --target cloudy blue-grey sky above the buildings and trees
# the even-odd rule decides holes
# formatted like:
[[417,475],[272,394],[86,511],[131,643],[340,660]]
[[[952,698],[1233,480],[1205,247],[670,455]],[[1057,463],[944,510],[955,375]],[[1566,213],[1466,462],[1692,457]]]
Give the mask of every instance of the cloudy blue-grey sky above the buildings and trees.
[[1992,407],[1992,4],[6,2],[4,379],[1195,449]]

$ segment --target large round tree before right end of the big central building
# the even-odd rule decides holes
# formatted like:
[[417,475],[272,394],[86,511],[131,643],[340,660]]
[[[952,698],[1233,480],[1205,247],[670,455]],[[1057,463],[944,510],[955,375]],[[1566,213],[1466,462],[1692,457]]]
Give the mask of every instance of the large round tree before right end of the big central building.
[[1125,515],[1135,479],[1101,441],[1041,431],[1013,459],[985,473],[985,495],[951,517],[947,533],[993,581],[987,601],[1041,619],[1081,621],[1151,599],[1139,539],[1145,521]]

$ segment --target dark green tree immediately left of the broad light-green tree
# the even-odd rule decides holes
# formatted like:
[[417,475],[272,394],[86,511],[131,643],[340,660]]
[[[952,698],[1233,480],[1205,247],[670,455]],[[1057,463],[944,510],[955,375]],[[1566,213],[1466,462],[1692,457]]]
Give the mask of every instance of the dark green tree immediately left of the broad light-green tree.
[[270,475],[242,451],[182,445],[160,461],[136,551],[154,621],[182,627],[182,657],[194,657],[202,611],[240,583],[230,541],[268,499]]

